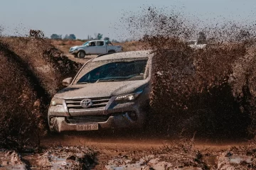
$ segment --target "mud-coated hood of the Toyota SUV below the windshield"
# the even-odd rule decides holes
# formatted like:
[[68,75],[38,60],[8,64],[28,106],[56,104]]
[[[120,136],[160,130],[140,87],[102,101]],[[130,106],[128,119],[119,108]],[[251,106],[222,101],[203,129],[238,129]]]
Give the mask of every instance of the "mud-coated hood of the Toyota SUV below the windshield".
[[55,94],[55,98],[97,98],[130,94],[148,86],[149,80],[138,81],[108,81],[93,84],[76,84],[68,86]]

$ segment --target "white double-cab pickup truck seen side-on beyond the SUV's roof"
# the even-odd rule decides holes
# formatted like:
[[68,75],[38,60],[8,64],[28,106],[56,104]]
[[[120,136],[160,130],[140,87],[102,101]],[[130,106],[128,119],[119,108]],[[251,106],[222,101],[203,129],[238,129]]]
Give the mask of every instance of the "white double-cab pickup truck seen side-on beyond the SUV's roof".
[[75,57],[84,58],[85,55],[122,52],[122,47],[119,45],[112,45],[112,43],[107,40],[91,40],[82,45],[70,47],[69,52],[70,54],[75,55]]

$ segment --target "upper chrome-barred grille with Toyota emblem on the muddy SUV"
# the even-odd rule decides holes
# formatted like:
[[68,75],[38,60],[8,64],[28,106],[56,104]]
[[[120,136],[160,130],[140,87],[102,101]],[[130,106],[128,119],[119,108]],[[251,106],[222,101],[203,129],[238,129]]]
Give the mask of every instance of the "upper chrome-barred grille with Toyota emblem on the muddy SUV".
[[102,98],[90,98],[92,100],[92,106],[90,108],[82,108],[81,101],[82,99],[69,99],[65,100],[67,104],[68,111],[80,111],[80,110],[88,110],[88,109],[104,109],[107,105],[107,102],[110,101],[110,97],[102,97]]

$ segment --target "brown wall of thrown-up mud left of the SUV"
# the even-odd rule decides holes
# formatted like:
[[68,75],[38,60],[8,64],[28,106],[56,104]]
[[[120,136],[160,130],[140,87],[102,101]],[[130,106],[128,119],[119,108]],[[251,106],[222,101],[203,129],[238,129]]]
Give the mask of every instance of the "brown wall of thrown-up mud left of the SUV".
[[50,98],[80,64],[41,38],[1,38],[0,60],[0,146],[39,145]]

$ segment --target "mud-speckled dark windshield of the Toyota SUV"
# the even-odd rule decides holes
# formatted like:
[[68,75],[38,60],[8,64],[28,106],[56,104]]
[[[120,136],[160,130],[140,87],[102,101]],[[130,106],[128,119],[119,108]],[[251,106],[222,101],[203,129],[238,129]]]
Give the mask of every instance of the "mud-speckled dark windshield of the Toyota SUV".
[[76,84],[99,81],[132,81],[145,79],[147,60],[97,61],[88,63],[78,74]]

